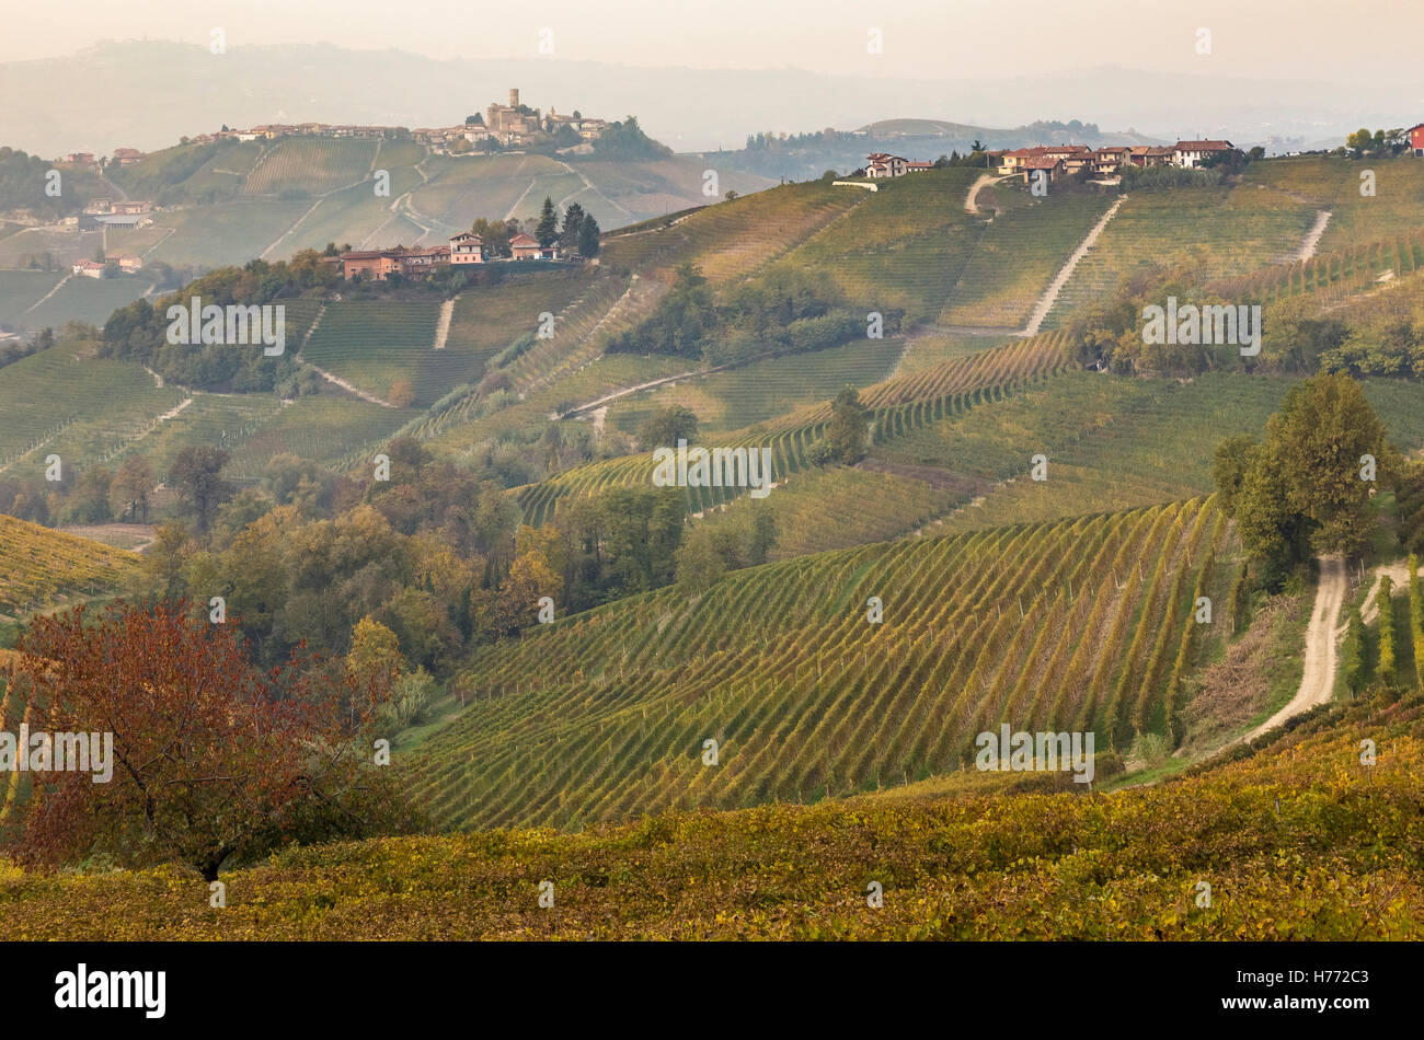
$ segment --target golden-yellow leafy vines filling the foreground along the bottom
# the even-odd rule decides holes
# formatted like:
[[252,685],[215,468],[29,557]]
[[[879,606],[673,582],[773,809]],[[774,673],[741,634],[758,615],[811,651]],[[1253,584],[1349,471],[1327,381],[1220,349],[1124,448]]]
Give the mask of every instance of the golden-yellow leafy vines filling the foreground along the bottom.
[[[16,940],[1417,940],[1420,710],[1418,694],[1336,707],[1210,773],[1095,798],[887,791],[582,834],[303,845],[225,872],[242,895],[224,909],[171,868],[0,861],[0,891]],[[1388,748],[1376,765],[1364,738]]]

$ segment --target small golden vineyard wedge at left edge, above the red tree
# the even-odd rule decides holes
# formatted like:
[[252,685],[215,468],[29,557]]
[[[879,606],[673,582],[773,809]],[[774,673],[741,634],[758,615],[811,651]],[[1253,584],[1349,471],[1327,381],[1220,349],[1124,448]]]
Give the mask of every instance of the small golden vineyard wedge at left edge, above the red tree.
[[111,593],[138,572],[137,553],[4,514],[0,514],[0,615],[11,617]]

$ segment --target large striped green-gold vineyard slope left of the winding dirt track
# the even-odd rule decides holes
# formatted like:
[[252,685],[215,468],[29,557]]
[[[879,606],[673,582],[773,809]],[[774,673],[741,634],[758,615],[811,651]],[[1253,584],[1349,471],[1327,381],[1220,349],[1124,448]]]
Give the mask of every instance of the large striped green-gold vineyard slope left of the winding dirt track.
[[1099,751],[1171,740],[1209,642],[1186,607],[1229,571],[1225,528],[1193,499],[899,541],[538,626],[476,657],[476,701],[417,748],[410,784],[447,825],[581,828],[943,774],[1000,723],[1092,728]]

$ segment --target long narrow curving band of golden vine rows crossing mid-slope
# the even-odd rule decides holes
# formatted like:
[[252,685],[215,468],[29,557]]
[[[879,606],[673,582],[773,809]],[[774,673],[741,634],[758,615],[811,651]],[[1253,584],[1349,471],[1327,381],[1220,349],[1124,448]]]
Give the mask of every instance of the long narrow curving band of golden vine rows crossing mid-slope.
[[[1024,383],[1061,370],[1065,359],[1057,336],[1020,340],[973,357],[956,359],[926,371],[893,378],[860,394],[871,411],[871,440],[899,437],[947,415],[991,400],[1001,400]],[[783,415],[740,434],[721,438],[718,445],[772,450],[772,475],[780,479],[807,467],[806,451],[830,421],[830,404]],[[607,462],[592,462],[518,489],[517,498],[527,524],[553,518],[560,499],[598,494],[615,487],[646,485],[652,479],[652,454],[639,452]],[[686,488],[689,512],[701,512],[739,497],[743,488]]]

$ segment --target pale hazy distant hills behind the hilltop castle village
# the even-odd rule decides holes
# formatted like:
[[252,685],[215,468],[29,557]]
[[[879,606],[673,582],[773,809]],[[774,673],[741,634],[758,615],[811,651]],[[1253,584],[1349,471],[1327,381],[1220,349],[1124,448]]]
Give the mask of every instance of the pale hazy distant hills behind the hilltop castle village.
[[[431,60],[329,44],[103,43],[64,58],[0,64],[0,141],[44,156],[161,148],[184,134],[275,120],[447,125],[523,84],[531,105],[637,114],[678,151],[739,148],[758,131],[850,129],[887,115],[974,127],[1082,120],[1141,134],[1226,137],[1290,151],[1361,122],[1400,125],[1424,94],[1384,83],[1158,73],[1085,55],[1071,73],[977,80],[823,75],[795,68],[638,68],[598,61]],[[1017,70],[1014,70],[1017,71]],[[56,90],[57,83],[83,84]],[[997,142],[995,142],[997,144]]]

